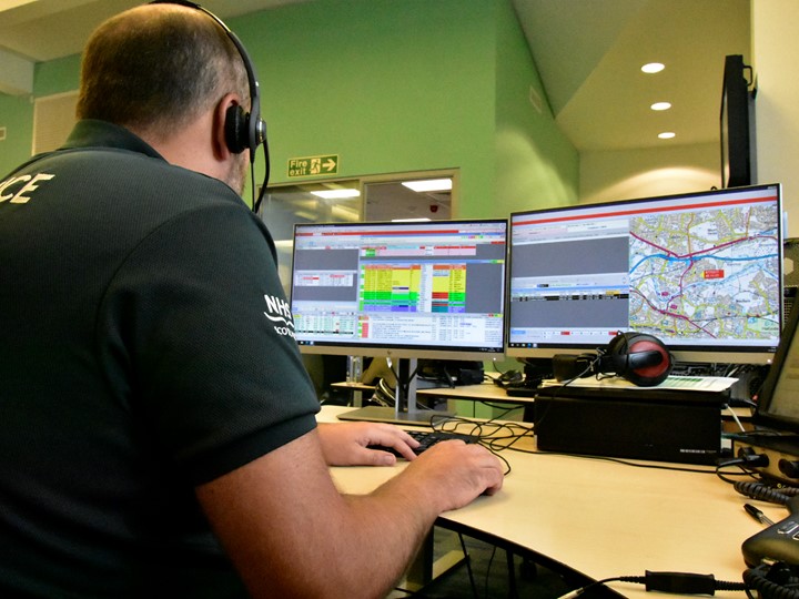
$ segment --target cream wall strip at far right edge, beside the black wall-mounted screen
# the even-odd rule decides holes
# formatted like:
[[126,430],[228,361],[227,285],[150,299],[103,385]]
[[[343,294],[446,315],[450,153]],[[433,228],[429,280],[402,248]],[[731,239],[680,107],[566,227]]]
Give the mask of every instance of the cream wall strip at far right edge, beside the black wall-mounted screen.
[[757,182],[782,183],[789,237],[799,237],[799,2],[751,3],[757,78]]

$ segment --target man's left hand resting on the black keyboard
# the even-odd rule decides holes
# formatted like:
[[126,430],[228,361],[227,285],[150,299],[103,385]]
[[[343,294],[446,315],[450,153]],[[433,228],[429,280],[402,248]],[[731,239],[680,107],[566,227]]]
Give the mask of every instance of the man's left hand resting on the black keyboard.
[[388,451],[368,449],[382,445],[413,460],[418,441],[402,428],[382,423],[328,423],[318,425],[322,451],[328,466],[393,466],[396,457]]

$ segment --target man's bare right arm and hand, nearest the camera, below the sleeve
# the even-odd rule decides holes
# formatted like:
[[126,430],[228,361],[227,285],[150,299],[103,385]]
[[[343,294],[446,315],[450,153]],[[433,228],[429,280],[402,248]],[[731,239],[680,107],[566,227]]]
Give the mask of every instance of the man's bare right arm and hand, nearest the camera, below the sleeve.
[[314,430],[196,493],[253,597],[372,598],[388,592],[441,512],[502,481],[485,448],[446,441],[374,493],[344,496]]

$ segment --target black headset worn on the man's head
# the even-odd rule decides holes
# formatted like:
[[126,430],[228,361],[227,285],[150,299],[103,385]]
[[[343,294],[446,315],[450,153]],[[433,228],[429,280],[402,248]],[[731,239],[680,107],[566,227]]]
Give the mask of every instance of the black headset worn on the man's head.
[[[188,0],[152,0],[150,4],[178,4],[181,7],[188,7],[199,10],[208,14],[211,19],[219,24],[222,30],[227,34],[227,38],[233,42],[239,54],[244,63],[244,70],[246,71],[247,84],[250,87],[250,112],[245,112],[244,109],[236,104],[230,106],[225,113],[225,143],[227,149],[234,154],[241,154],[244,150],[250,150],[250,176],[252,186],[252,211],[257,213],[263,200],[264,192],[266,191],[266,184],[269,183],[270,176],[270,155],[269,144],[266,142],[266,123],[261,118],[261,87],[259,85],[257,78],[255,77],[255,68],[253,67],[250,55],[244,49],[241,40],[236,37],[233,31],[213,12],[201,7],[196,2],[190,2]],[[257,199],[255,197],[255,151],[259,145],[263,145],[264,160],[265,160],[265,173],[263,184],[261,185],[261,193]]]

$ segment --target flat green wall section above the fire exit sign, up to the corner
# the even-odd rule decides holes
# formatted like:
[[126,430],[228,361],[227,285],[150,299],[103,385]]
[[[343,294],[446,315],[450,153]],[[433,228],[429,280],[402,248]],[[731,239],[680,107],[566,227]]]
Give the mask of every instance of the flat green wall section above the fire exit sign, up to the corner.
[[272,181],[328,153],[342,176],[461,167],[469,215],[493,189],[493,14],[485,0],[318,0],[233,20],[262,81]]

